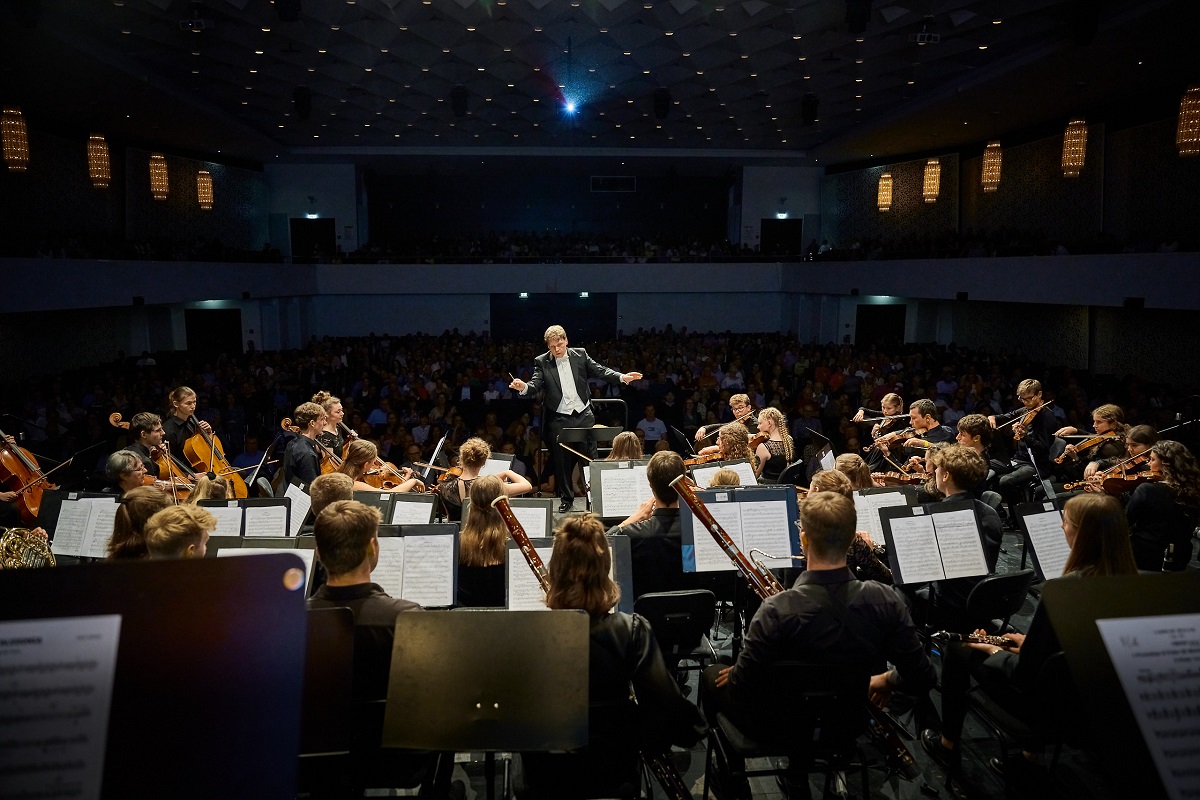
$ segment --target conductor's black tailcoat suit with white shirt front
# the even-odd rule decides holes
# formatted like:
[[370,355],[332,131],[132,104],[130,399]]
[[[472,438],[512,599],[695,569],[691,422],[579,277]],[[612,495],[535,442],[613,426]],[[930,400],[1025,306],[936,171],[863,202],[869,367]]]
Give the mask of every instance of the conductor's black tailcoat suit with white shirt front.
[[[547,350],[533,360],[533,378],[526,384],[522,396],[542,393],[542,408],[546,422],[542,426],[542,439],[550,449],[551,458],[557,467],[554,480],[558,488],[558,497],[563,503],[572,503],[575,492],[571,489],[571,473],[578,457],[558,446],[558,437],[563,428],[590,428],[595,425],[596,417],[592,411],[592,391],[588,389],[588,378],[602,378],[610,384],[620,383],[623,373],[598,363],[583,348],[566,348],[563,356],[568,362],[568,369],[575,383],[575,391],[578,395],[582,408],[565,409],[563,401],[563,380],[559,373],[558,362]],[[570,445],[578,450],[575,444]],[[589,455],[595,456],[595,444],[588,445]]]

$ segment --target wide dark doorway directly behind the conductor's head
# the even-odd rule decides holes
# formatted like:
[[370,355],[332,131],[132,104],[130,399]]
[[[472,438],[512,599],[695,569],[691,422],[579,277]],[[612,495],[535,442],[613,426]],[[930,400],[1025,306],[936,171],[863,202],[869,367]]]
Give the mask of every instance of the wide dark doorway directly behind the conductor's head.
[[492,295],[492,338],[541,342],[551,325],[566,329],[571,347],[586,348],[589,342],[611,339],[617,335],[617,295],[590,293]]

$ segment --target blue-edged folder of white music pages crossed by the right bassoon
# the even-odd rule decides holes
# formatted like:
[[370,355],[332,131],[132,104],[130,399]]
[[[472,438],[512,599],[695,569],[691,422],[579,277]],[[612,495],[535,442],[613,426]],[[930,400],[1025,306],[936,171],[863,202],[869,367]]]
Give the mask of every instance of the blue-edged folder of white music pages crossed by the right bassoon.
[[[720,487],[700,489],[696,494],[746,558],[751,558],[752,548],[779,557],[800,554],[800,531],[797,527],[799,507],[794,486]],[[750,513],[754,516],[748,516]],[[708,529],[696,524],[696,517],[686,504],[679,506],[679,528],[684,572],[737,570]],[[790,558],[755,558],[772,569],[794,566]]]

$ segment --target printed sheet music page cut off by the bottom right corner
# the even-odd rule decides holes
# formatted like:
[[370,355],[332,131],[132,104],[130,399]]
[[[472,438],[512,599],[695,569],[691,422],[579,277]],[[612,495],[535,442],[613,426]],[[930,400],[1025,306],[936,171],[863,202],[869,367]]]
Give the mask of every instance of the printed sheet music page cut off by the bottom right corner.
[[1098,619],[1096,626],[1166,795],[1200,796],[1200,614]]

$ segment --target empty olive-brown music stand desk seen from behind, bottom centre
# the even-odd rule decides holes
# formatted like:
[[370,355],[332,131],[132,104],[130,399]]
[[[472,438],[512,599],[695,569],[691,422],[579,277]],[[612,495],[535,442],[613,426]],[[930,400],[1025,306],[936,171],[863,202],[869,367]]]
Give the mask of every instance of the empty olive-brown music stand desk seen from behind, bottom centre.
[[568,751],[587,741],[587,614],[396,618],[384,747]]

